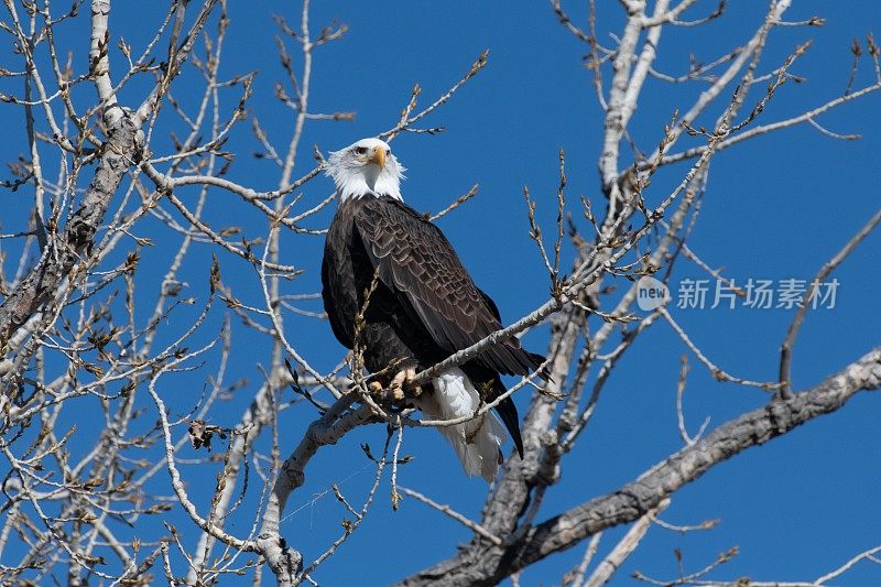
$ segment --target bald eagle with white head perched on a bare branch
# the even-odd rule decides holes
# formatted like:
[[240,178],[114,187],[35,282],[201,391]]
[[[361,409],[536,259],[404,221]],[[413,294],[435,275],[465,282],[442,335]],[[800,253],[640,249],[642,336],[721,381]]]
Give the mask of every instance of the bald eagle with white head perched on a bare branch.
[[[384,387],[399,388],[416,371],[502,327],[499,308],[475,285],[440,229],[404,204],[404,171],[379,139],[362,139],[330,154],[327,174],[339,207],[322,262],[325,309],[334,335],[349,349],[356,343],[356,316],[377,275],[360,348],[365,367],[379,373]],[[410,401],[431,420],[471,415],[505,392],[501,374],[525,376],[543,361],[509,338],[439,373]],[[514,402],[508,398],[496,410],[522,457]],[[438,430],[468,475],[488,482],[496,478],[504,431],[492,413]]]

